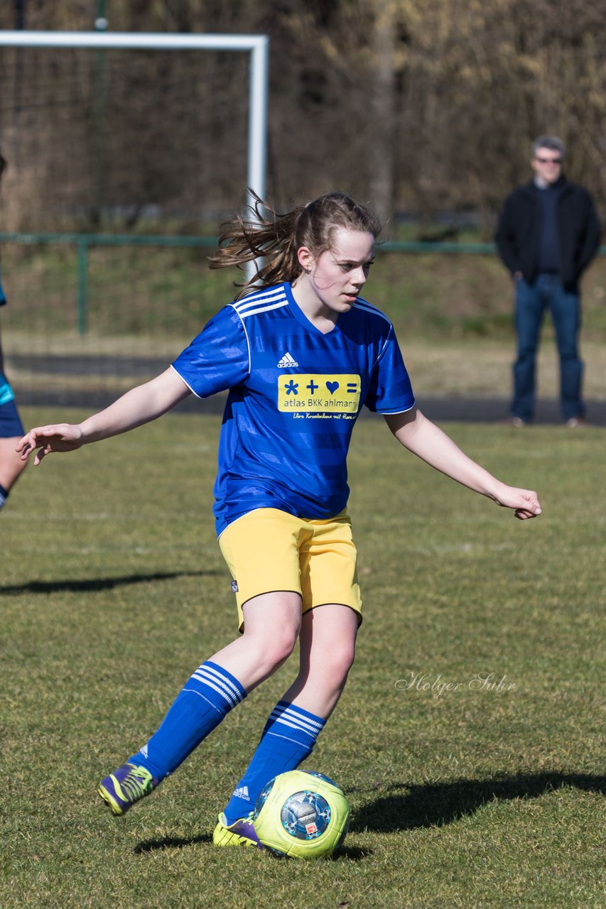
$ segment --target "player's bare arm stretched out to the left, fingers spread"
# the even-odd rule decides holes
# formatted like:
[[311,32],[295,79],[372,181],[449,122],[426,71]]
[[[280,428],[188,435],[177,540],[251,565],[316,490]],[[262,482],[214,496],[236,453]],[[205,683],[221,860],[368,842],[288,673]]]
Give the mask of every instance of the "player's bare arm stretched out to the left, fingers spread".
[[151,382],[137,385],[126,392],[126,395],[118,398],[114,404],[98,414],[87,417],[82,423],[35,426],[24,435],[16,450],[25,461],[37,448],[34,460],[34,464],[37,465],[46,454],[76,451],[82,445],[99,442],[111,435],[127,433],[129,429],[149,423],[157,416],[166,414],[167,410],[189,394],[191,393],[187,385],[175,370],[167,369]]

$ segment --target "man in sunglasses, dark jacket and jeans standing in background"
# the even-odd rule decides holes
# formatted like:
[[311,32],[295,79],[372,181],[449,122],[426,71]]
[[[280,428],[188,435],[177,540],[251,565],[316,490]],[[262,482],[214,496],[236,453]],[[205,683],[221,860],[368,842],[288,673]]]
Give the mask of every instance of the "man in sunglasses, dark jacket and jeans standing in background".
[[560,355],[561,411],[567,426],[585,422],[579,281],[600,245],[600,222],[591,195],[562,173],[561,139],[541,135],[532,144],[530,183],[505,200],[495,237],[515,282],[518,355],[513,365],[510,423],[532,422],[540,325],[549,308]]

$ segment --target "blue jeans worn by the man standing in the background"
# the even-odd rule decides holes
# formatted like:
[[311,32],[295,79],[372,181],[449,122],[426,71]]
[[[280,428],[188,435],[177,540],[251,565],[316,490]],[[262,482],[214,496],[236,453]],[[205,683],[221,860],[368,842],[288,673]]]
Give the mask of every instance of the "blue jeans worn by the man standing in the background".
[[530,422],[534,415],[535,366],[540,325],[549,308],[560,355],[560,397],[564,420],[583,416],[581,400],[583,365],[577,350],[581,326],[578,293],[567,291],[558,275],[539,275],[533,284],[516,282],[516,333],[518,358],[513,365],[511,414]]

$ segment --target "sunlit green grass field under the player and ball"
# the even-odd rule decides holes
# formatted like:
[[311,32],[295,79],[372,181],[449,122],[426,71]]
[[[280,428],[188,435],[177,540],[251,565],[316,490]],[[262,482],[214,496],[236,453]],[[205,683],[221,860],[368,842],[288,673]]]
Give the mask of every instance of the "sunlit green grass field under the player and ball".
[[[57,417],[24,409],[29,425]],[[98,780],[235,634],[210,515],[218,425],[169,415],[48,458],[0,517],[0,905],[603,907],[600,429],[449,426],[539,490],[543,515],[522,523],[359,422],[365,622],[308,761],[351,804],[334,859],[210,842],[288,664],[156,794],[107,812]]]

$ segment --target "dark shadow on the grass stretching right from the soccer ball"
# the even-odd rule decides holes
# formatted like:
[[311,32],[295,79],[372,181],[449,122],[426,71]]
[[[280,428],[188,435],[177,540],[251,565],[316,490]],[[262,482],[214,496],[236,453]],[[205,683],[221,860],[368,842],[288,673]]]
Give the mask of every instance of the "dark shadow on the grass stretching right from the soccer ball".
[[391,833],[442,826],[473,814],[489,802],[537,798],[563,786],[606,794],[606,776],[544,773],[424,785],[396,783],[390,788],[401,790],[401,794],[386,795],[363,805],[352,817],[349,829]]

